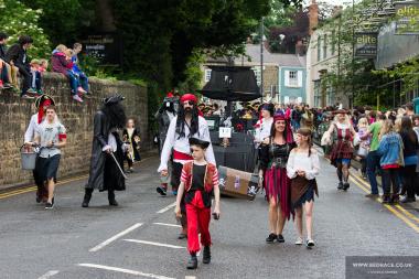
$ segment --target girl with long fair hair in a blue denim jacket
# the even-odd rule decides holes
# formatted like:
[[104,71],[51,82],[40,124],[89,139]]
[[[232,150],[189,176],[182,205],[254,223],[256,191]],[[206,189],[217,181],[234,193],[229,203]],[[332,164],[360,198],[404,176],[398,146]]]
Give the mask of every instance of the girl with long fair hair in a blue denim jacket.
[[404,158],[402,155],[400,157],[401,149],[402,140],[394,131],[393,121],[389,119],[385,120],[379,132],[379,146],[377,150],[378,155],[380,155],[379,164],[383,170],[383,203],[397,203],[399,200],[398,175],[399,168],[404,164]]

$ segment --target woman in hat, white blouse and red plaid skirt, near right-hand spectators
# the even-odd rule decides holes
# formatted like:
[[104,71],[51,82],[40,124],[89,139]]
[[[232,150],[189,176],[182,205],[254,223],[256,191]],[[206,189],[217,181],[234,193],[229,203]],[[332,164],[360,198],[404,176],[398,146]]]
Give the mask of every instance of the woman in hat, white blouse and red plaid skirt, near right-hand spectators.
[[350,187],[350,168],[354,153],[352,141],[356,132],[345,110],[339,109],[335,114],[335,119],[327,130],[327,135],[333,139],[331,140],[333,144],[330,159],[331,163],[336,168],[337,190],[346,191]]

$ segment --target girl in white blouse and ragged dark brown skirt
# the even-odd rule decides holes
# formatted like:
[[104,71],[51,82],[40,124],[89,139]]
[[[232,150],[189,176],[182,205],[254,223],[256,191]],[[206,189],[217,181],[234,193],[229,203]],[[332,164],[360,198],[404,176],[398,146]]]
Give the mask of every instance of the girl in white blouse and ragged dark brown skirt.
[[291,179],[291,206],[296,212],[296,227],[298,238],[296,245],[302,245],[302,213],[305,214],[308,248],[314,246],[313,240],[313,205],[314,193],[319,196],[315,176],[320,171],[319,155],[312,148],[311,130],[300,128],[297,131],[297,144],[287,163],[287,174]]

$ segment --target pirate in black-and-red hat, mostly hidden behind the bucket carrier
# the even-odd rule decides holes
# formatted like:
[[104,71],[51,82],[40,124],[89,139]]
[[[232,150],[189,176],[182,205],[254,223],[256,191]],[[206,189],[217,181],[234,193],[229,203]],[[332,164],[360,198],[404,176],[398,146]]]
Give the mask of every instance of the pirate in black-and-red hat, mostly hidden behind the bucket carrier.
[[[32,149],[31,142],[34,141],[35,131],[37,130],[39,125],[44,119],[45,108],[49,106],[54,106],[54,105],[55,105],[54,99],[46,94],[44,94],[44,95],[42,95],[35,99],[35,107],[36,107],[37,112],[31,117],[31,121],[29,122],[26,132],[24,133],[24,144],[25,144],[25,148],[28,150]],[[39,170],[36,170],[36,168],[35,168],[35,170],[33,170],[33,179],[35,180],[35,184],[37,187],[37,190],[36,190],[36,203],[41,203],[41,202],[46,202],[47,196],[49,196],[49,192],[47,192],[43,181],[40,179],[40,175],[37,172],[39,172]]]

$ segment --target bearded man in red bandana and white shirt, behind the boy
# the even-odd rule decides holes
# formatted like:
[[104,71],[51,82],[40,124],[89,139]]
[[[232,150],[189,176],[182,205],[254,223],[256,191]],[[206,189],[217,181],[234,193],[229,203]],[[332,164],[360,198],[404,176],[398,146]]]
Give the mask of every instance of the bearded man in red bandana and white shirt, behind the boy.
[[[169,126],[164,146],[161,152],[160,167],[158,172],[161,175],[169,175],[168,161],[173,151],[173,162],[171,172],[171,185],[176,191],[181,181],[183,164],[193,160],[190,150],[190,138],[197,138],[208,141],[210,146],[205,151],[206,160],[215,164],[213,146],[211,144],[210,130],[206,120],[198,116],[196,106],[197,99],[193,94],[185,94],[180,99],[178,116],[174,117]],[[183,198],[182,198],[183,201]],[[185,206],[182,203],[182,232],[179,238],[186,237]]]

